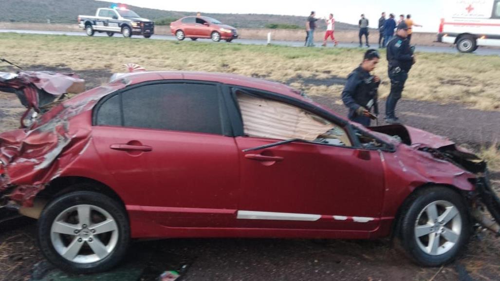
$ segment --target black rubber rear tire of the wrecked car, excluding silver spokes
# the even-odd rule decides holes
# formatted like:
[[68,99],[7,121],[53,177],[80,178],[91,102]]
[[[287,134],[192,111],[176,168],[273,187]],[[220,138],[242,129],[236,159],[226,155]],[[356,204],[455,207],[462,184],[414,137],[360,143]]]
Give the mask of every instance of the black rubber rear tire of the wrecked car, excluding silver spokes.
[[[88,211],[88,226],[83,225],[84,228],[80,227],[81,225],[79,224],[80,221],[78,218],[76,219],[78,221],[76,224],[63,221],[65,223],[71,223],[70,225],[74,226],[75,228],[81,228],[79,230],[80,233],[75,232],[75,234],[59,234],[60,232],[58,231],[52,231],[52,226],[56,225],[55,221],[58,217],[62,216],[65,217],[65,219],[75,219],[74,214],[70,215],[72,213],[71,208],[78,208],[81,206],[90,206]],[[93,210],[90,210],[92,208]],[[107,214],[110,215],[110,217],[114,221],[114,229],[103,231],[100,234],[90,234],[95,233],[95,229],[98,229],[92,228],[92,226],[97,225],[97,223],[99,222],[95,222],[94,220],[95,216],[99,214],[98,212],[96,213],[95,209],[99,208],[100,210],[104,210],[105,212],[107,212]],[[77,215],[78,213],[79,208]],[[73,222],[75,222],[76,220],[73,220]],[[123,206],[115,200],[101,193],[93,191],[73,191],[56,197],[54,200],[48,203],[41,212],[40,218],[38,219],[37,231],[37,242],[45,258],[62,270],[78,274],[101,272],[114,267],[125,255],[130,240],[130,227],[128,223],[128,217]],[[107,242],[106,235],[108,239]],[[70,242],[67,242],[67,245],[59,243],[55,243],[54,245],[54,239],[57,242],[63,241],[64,239],[67,239],[68,241],[70,240]],[[111,251],[105,253],[102,258],[97,257],[98,260],[90,262],[88,262],[88,260],[87,262],[73,261],[79,256],[89,257],[89,255],[84,255],[85,251],[88,253],[88,249],[90,249],[92,253],[96,253],[95,250],[91,248],[92,246],[90,243],[93,242],[94,246],[103,245],[105,243],[108,243],[109,245],[111,241],[113,241]],[[62,247],[67,250],[70,248],[71,244],[76,244],[77,242],[79,242],[79,244],[81,245],[74,252],[75,257],[72,258],[72,260],[63,257],[62,254],[60,254],[56,249],[56,247],[58,247],[59,250],[61,250],[62,245]]]

